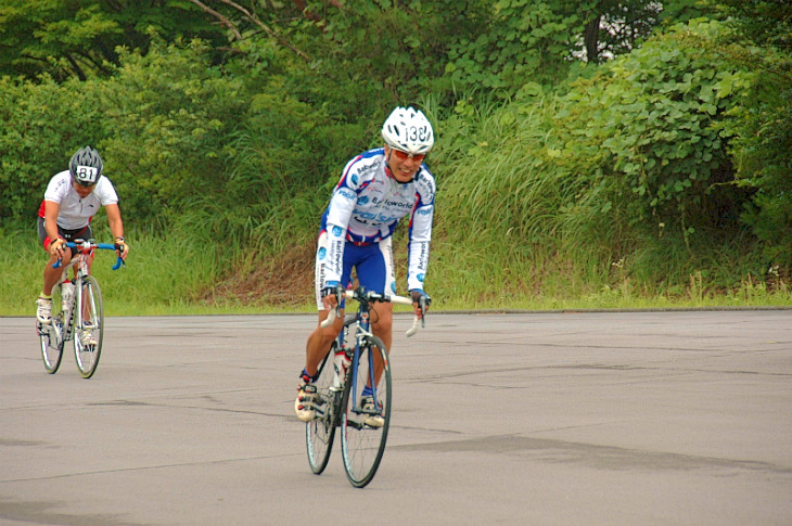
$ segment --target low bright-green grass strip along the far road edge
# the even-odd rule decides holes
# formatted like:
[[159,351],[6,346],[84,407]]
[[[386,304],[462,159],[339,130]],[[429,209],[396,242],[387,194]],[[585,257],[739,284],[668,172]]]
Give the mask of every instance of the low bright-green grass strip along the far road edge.
[[[399,236],[404,234],[400,232]],[[212,252],[186,242],[167,242],[154,235],[129,235],[130,256],[126,268],[111,270],[110,252],[100,252],[93,274],[100,282],[106,316],[246,315],[268,312],[312,312],[312,298],[299,306],[245,305],[232,298],[207,303],[206,288],[219,275],[220,266]],[[101,239],[100,239],[101,241]],[[401,239],[401,241],[404,241]],[[2,234],[0,251],[0,316],[33,316],[47,260],[35,234]],[[397,243],[397,252],[404,245]],[[537,270],[534,260],[523,257],[507,268],[493,260],[496,244],[476,253],[436,243],[427,286],[435,310],[576,310],[790,307],[792,287],[782,280],[768,284],[744,278],[720,290],[708,286],[702,272],[693,272],[686,286],[657,292],[624,274],[597,275],[575,271],[563,259],[548,258]],[[513,256],[513,254],[512,254]],[[523,255],[524,256],[524,255]],[[404,255],[400,256],[404,258]],[[404,261],[397,266],[403,269]],[[604,281],[610,280],[609,283]],[[404,294],[404,291],[403,291]],[[397,310],[405,310],[399,307]]]

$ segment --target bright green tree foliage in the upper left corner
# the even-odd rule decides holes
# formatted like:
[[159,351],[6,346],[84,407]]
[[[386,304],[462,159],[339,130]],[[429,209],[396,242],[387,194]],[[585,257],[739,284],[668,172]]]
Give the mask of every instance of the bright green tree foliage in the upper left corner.
[[0,5],[0,75],[56,80],[107,75],[116,48],[145,52],[151,34],[173,41],[222,34],[187,0],[5,0]]

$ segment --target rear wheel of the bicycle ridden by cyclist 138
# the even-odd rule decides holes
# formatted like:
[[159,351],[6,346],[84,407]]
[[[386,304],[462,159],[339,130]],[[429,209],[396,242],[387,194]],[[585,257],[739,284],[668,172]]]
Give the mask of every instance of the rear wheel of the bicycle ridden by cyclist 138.
[[335,438],[335,427],[338,423],[342,392],[333,386],[333,357],[337,344],[333,344],[324,360],[319,364],[316,380],[316,419],[305,424],[305,445],[308,450],[310,470],[319,475],[324,471],[330,460]]

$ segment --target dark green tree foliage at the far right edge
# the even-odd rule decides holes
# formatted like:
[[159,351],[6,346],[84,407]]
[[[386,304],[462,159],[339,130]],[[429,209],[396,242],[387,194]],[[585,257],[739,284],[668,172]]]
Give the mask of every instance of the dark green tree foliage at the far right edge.
[[[754,191],[743,220],[763,242],[770,265],[792,272],[792,3],[718,0],[736,28],[720,50],[762,77],[744,104],[731,145],[741,185]],[[731,46],[743,42],[750,47]]]

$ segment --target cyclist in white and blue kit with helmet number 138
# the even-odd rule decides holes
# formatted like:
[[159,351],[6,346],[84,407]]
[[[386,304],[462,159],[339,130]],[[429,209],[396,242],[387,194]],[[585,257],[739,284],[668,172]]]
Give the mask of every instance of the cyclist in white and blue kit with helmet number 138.
[[[396,294],[392,235],[406,216],[409,216],[407,290],[417,316],[422,316],[420,298],[429,300],[423,282],[432,239],[435,181],[423,159],[434,145],[432,125],[421,111],[397,107],[385,120],[382,138],[383,147],[363,152],[347,163],[322,215],[315,269],[319,324],[308,337],[305,369],[299,374],[294,403],[297,418],[304,422],[316,415],[314,376],[341,332],[344,316],[327,329],[320,324],[330,309],[335,308],[338,288],[350,284],[353,268],[359,285],[381,294]],[[376,311],[371,317],[373,333],[389,350],[393,305],[376,303],[373,308]]]

